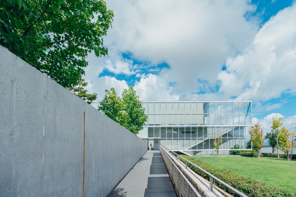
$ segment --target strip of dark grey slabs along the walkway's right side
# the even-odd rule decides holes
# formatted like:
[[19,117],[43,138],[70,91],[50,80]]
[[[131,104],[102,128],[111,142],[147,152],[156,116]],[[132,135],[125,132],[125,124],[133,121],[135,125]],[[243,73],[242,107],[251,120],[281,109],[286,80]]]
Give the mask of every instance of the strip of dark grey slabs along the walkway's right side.
[[153,153],[144,197],[177,197],[160,153]]

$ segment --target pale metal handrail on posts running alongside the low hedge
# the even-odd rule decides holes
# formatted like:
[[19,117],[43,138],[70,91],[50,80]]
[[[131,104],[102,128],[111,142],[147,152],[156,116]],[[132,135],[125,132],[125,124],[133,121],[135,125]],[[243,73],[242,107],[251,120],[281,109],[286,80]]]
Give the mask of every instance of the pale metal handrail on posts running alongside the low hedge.
[[[165,146],[163,146],[163,145],[161,145],[161,144],[160,144],[160,147],[163,148],[163,149],[165,149],[165,150],[168,151],[168,152],[171,151],[170,149],[166,148]],[[184,157],[178,155],[177,153],[175,153],[175,152],[173,152],[173,151],[171,151],[171,153],[172,153],[172,155],[173,155],[173,153],[175,154],[177,160],[178,160],[178,156],[185,160],[185,168],[186,168],[186,169],[187,169],[187,165],[188,165],[188,163],[190,163],[190,164],[192,164],[194,167],[200,169],[200,170],[201,170],[202,172],[204,172],[205,174],[209,175],[209,176],[210,176],[210,187],[209,187],[209,188],[210,188],[210,191],[213,191],[213,179],[215,179],[216,181],[218,181],[219,183],[221,183],[222,185],[224,185],[225,187],[227,187],[228,189],[230,189],[231,191],[233,191],[233,192],[236,193],[237,195],[242,196],[242,197],[248,197],[247,195],[243,194],[243,193],[240,192],[239,190],[237,190],[237,189],[231,187],[230,185],[228,185],[228,184],[225,183],[224,181],[218,179],[217,177],[215,177],[214,175],[212,175],[210,172],[207,172],[207,171],[205,171],[204,169],[202,169],[201,167],[198,167],[197,165],[195,165],[194,163],[188,161],[187,159],[185,159]]]

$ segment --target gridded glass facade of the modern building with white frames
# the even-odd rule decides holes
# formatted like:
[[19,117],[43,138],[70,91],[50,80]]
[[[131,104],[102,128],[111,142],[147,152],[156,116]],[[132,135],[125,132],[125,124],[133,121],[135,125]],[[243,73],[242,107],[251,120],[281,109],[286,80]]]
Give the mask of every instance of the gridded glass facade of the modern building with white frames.
[[220,150],[249,149],[251,101],[142,101],[148,115],[142,139],[160,140],[172,150],[214,150],[215,134],[222,135]]

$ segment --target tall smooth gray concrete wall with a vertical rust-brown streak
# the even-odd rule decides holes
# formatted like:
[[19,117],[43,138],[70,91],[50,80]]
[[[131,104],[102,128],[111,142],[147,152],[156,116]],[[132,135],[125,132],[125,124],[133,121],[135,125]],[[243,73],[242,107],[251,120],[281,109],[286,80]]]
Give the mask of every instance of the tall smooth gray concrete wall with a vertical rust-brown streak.
[[0,196],[106,196],[147,143],[0,46]]

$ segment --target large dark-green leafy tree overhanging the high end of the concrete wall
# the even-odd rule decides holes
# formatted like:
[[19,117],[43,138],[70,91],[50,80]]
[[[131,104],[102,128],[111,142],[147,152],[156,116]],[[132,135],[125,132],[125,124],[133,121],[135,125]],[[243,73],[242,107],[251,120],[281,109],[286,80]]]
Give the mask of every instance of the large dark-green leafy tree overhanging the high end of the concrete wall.
[[0,45],[64,87],[77,85],[87,55],[105,56],[113,12],[102,0],[2,0]]

